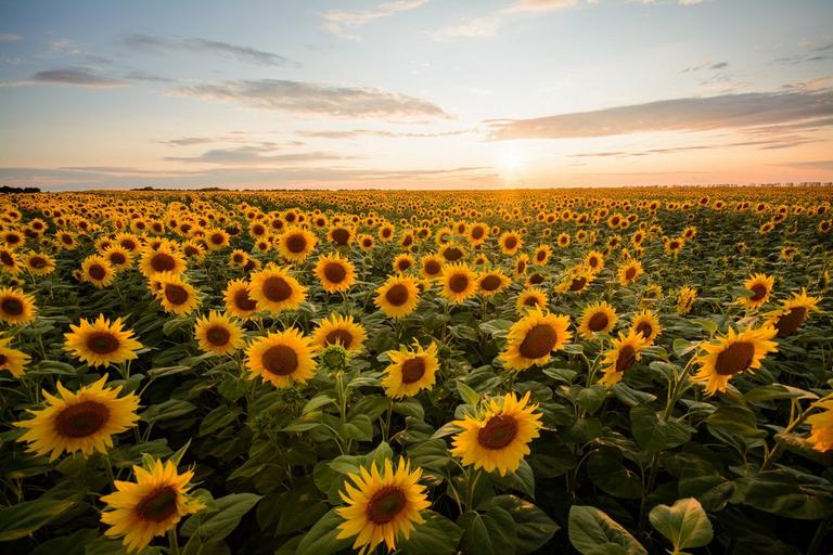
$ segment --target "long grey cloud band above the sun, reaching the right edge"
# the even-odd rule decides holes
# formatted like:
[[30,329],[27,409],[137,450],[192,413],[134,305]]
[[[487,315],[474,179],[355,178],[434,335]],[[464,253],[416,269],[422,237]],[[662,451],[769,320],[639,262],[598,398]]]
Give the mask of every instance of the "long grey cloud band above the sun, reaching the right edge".
[[818,120],[833,89],[661,100],[549,117],[490,120],[492,139],[568,139],[656,131],[707,131]]

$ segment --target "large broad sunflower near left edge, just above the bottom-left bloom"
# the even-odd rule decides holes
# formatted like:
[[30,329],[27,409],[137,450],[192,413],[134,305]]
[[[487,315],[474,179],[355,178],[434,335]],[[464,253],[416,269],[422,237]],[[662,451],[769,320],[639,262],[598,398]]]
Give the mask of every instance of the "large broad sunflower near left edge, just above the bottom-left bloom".
[[60,398],[43,391],[49,406],[29,411],[33,417],[15,422],[27,431],[18,441],[25,441],[28,451],[38,456],[49,454],[52,462],[66,451],[80,451],[85,456],[93,452],[106,453],[113,447],[113,436],[132,428],[139,415],[139,398],[133,393],[118,397],[121,386],[105,388],[107,377],[102,376],[75,393],[59,380]]

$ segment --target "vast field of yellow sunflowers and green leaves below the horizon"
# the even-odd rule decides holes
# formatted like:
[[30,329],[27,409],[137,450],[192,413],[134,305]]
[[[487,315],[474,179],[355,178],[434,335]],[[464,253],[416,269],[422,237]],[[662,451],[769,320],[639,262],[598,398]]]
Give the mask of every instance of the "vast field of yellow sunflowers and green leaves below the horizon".
[[833,553],[833,191],[0,205],[0,550]]

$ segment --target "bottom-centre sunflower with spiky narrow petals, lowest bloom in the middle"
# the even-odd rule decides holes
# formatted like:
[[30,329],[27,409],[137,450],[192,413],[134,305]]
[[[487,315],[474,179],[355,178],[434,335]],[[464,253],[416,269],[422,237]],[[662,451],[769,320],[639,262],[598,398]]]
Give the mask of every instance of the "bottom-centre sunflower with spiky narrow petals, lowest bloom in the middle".
[[345,482],[345,491],[338,492],[347,506],[335,509],[344,518],[336,538],[356,535],[353,548],[359,550],[359,555],[373,552],[382,542],[394,551],[399,537],[407,540],[414,525],[425,521],[420,513],[431,506],[425,487],[419,485],[422,469],[411,470],[410,463],[399,459],[394,472],[386,459],[381,473],[375,461],[370,472],[363,466],[359,470],[347,475],[353,485]]

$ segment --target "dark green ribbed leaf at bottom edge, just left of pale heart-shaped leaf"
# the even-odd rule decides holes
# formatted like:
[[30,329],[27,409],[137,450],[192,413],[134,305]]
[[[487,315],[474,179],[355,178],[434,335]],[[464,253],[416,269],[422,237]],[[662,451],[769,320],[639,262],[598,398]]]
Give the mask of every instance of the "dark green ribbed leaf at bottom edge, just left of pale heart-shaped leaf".
[[607,544],[617,545],[628,555],[648,555],[630,532],[595,507],[571,507],[568,535],[569,543],[582,555],[606,553],[607,550],[602,547]]

